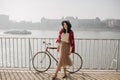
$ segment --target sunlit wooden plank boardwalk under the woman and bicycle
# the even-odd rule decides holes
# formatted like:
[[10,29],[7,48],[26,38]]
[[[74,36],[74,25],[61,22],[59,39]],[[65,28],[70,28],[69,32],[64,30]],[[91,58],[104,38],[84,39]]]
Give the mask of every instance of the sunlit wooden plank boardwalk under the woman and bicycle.
[[[0,80],[51,80],[53,71],[38,73],[34,70],[1,69]],[[115,71],[80,71],[68,74],[68,78],[62,79],[63,73],[59,72],[56,80],[120,80],[120,72]]]

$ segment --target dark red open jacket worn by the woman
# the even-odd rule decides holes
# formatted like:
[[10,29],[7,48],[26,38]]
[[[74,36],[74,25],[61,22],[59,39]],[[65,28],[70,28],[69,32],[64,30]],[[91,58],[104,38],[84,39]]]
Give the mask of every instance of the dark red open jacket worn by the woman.
[[[61,42],[61,34],[63,33],[63,30],[61,29],[59,31],[59,36],[57,38],[57,41],[58,43]],[[72,47],[72,52],[75,52],[75,42],[74,42],[74,33],[73,31],[71,30],[70,33],[69,33],[69,41],[70,41],[70,46]]]

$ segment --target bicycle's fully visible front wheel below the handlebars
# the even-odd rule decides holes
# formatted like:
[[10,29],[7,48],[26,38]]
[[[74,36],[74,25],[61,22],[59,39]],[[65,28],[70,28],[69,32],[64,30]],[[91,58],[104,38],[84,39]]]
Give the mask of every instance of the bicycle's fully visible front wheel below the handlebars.
[[50,68],[51,58],[46,52],[37,52],[32,58],[33,68],[38,72],[45,72]]

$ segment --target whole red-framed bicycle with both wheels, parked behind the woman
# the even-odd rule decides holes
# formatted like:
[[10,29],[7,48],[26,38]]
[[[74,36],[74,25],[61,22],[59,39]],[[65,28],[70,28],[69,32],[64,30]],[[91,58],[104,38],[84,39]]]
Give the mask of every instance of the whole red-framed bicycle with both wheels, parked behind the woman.
[[[51,58],[58,63],[58,60],[50,53],[48,49],[57,49],[57,47],[49,47],[51,43],[43,42],[46,46],[45,51],[37,52],[32,58],[33,68],[38,72],[45,72],[51,66]],[[78,53],[71,53],[72,66],[66,66],[69,73],[78,72],[82,68],[83,60]],[[37,62],[37,63],[36,63]]]

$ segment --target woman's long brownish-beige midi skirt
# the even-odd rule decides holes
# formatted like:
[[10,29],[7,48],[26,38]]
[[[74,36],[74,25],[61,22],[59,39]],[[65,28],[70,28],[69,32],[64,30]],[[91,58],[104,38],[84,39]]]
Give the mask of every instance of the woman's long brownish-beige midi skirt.
[[61,42],[59,45],[59,61],[58,61],[58,66],[72,66],[72,61],[70,59],[70,44],[66,42]]

